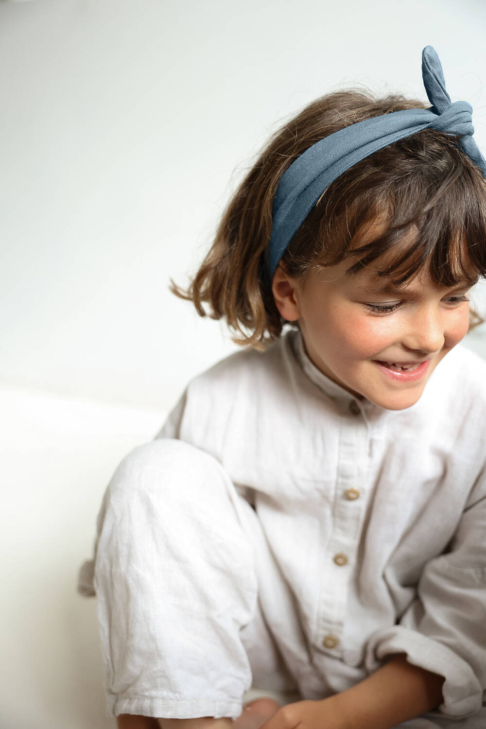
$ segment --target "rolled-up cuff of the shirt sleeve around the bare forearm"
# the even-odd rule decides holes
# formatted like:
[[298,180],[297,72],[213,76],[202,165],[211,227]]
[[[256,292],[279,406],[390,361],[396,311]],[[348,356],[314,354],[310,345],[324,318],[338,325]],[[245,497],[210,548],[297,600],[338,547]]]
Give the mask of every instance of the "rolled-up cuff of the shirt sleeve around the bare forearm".
[[482,687],[476,674],[469,663],[443,643],[403,625],[377,631],[367,644],[367,671],[376,671],[382,659],[391,653],[406,653],[407,661],[412,666],[445,677],[442,685],[444,701],[435,709],[436,712],[452,719],[463,719],[481,709]]

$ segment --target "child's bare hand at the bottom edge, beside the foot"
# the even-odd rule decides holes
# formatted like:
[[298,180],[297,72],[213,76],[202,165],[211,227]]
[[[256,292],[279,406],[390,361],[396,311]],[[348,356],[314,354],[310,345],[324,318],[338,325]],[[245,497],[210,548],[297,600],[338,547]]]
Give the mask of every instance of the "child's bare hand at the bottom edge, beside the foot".
[[349,723],[334,699],[330,696],[320,701],[288,703],[260,729],[348,729]]

